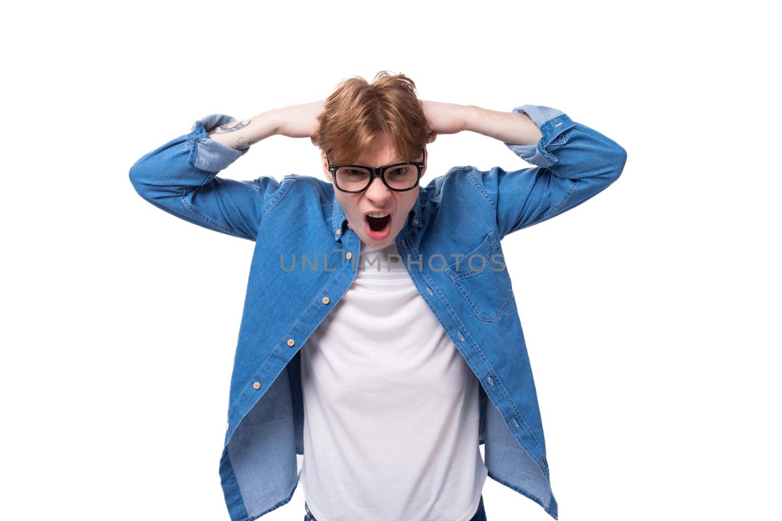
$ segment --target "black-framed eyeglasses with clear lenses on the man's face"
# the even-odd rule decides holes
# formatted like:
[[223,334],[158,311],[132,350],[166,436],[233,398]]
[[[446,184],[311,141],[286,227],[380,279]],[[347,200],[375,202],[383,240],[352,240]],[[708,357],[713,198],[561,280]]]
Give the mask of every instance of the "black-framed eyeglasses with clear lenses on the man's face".
[[408,191],[418,186],[418,180],[421,179],[421,173],[426,167],[426,154],[424,153],[422,162],[398,162],[393,165],[378,166],[378,168],[363,165],[332,165],[328,162],[328,156],[326,163],[339,191],[348,194],[362,192],[375,180],[375,176],[380,177],[389,190]]

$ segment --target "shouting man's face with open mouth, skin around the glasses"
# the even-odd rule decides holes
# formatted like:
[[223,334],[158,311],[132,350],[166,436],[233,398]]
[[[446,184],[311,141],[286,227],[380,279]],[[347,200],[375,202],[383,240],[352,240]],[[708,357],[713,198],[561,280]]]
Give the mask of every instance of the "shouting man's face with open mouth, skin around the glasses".
[[[425,150],[424,154],[428,155],[429,152]],[[422,155],[415,158],[415,160],[423,161],[424,157]],[[333,183],[334,178],[332,173],[328,171],[325,152],[321,153],[321,161],[323,162],[323,171],[326,178]],[[391,141],[389,141],[386,134],[381,134],[371,142],[371,145],[361,153],[353,164],[377,167],[405,161],[407,159],[400,159],[393,148],[391,148]],[[424,168],[421,172],[421,177],[423,177],[425,172],[426,169]],[[389,190],[383,184],[382,179],[378,177],[372,180],[372,184],[366,190],[358,194],[346,194],[338,190],[337,187],[334,187],[334,191],[336,192],[339,205],[345,211],[348,226],[356,232],[364,244],[372,248],[384,248],[396,239],[396,235],[404,227],[407,216],[418,198],[418,186],[408,191],[393,191]],[[371,231],[369,220],[366,216],[370,212],[390,214],[391,222],[385,237],[378,238],[377,234]],[[373,238],[371,235],[375,235],[375,237]]]

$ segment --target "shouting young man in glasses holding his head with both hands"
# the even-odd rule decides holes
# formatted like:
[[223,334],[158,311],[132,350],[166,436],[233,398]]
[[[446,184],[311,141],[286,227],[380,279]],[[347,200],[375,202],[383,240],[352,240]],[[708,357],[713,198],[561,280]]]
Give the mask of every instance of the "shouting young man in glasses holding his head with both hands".
[[[461,130],[535,166],[457,166],[423,187],[425,145]],[[273,134],[310,137],[326,180],[217,177]],[[593,197],[625,161],[558,109],[421,102],[385,72],[325,102],[206,116],[139,159],[147,201],[256,242],[220,462],[231,520],[285,505],[301,480],[305,520],[478,521],[486,476],[556,519],[500,240]]]

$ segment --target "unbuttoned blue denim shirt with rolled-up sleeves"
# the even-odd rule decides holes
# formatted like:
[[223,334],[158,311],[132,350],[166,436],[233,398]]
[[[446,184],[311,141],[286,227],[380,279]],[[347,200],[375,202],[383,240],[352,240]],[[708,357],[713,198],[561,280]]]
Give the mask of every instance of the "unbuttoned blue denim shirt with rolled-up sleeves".
[[[626,152],[561,110],[521,105],[513,112],[528,114],[543,134],[536,145],[505,144],[534,166],[456,166],[419,186],[396,248],[481,384],[476,439],[488,475],[556,519],[522,325],[508,271],[498,269],[500,241],[604,190],[622,173]],[[285,505],[296,490],[296,454],[303,455],[299,349],[353,282],[361,241],[326,180],[217,177],[249,151],[207,135],[231,121],[223,114],[196,121],[188,134],[138,159],[130,180],[152,205],[256,243],[220,459],[231,520],[250,521]]]

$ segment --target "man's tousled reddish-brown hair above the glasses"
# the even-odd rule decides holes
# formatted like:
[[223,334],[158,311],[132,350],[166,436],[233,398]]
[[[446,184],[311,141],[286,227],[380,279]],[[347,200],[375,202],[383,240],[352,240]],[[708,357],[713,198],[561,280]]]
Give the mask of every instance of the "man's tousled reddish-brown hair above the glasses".
[[429,141],[413,80],[380,71],[371,83],[359,76],[340,82],[317,116],[313,139],[332,164],[353,163],[375,137],[388,134],[403,161],[420,157]]

